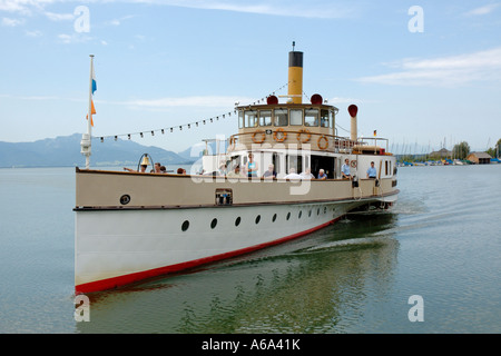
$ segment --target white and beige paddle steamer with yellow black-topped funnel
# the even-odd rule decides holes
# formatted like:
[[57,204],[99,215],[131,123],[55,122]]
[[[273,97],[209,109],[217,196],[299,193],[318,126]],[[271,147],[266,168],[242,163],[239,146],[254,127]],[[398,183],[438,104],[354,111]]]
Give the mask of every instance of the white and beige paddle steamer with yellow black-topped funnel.
[[[293,50],[286,98],[236,107],[238,132],[224,154],[203,157],[204,174],[77,167],[76,293],[250,253],[326,227],[351,210],[393,205],[396,161],[387,139],[357,137],[354,105],[348,107],[351,137],[340,137],[338,109],[320,95],[310,102],[303,97],[303,52]],[[84,135],[87,157],[89,148]],[[249,155],[255,171],[228,174],[236,166],[245,171]],[[348,178],[342,172],[346,159]],[[371,162],[375,178],[366,175]],[[271,165],[275,176],[263,177]],[[321,169],[325,179],[316,178]],[[303,176],[291,175],[294,170]]]

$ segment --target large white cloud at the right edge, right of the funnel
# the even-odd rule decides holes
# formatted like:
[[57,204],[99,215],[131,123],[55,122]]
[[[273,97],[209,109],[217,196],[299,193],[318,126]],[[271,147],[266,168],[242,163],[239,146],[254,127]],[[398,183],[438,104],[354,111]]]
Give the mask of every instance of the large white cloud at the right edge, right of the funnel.
[[400,71],[356,80],[395,86],[453,87],[501,79],[501,47],[435,59],[403,59],[386,63]]

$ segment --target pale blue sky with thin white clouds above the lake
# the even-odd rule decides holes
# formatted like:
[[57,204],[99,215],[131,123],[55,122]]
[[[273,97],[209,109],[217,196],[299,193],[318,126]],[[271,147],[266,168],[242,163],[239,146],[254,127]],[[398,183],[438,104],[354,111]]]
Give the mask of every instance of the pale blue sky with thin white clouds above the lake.
[[358,136],[396,154],[501,138],[501,1],[0,0],[0,141],[86,132],[89,55],[94,137],[229,137],[236,102],[287,93],[293,41],[340,136],[355,103]]

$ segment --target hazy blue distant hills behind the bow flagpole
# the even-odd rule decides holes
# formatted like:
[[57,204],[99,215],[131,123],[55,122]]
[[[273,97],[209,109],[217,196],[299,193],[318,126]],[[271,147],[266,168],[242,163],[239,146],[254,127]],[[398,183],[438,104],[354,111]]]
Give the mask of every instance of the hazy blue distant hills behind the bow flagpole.
[[[84,167],[80,154],[81,134],[59,136],[33,142],[0,141],[0,167]],[[117,139],[99,142],[92,139],[91,166],[136,167],[143,154],[149,154],[163,165],[188,165],[196,158],[154,146],[143,146],[130,140]]]

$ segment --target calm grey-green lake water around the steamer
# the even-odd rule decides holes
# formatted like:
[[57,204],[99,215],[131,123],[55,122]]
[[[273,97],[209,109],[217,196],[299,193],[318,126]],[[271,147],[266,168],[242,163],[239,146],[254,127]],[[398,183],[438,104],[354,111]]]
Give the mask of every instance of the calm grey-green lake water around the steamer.
[[397,187],[391,212],[90,295],[77,322],[75,169],[0,169],[0,333],[500,333],[501,165],[400,168]]

